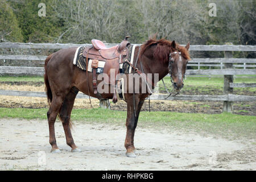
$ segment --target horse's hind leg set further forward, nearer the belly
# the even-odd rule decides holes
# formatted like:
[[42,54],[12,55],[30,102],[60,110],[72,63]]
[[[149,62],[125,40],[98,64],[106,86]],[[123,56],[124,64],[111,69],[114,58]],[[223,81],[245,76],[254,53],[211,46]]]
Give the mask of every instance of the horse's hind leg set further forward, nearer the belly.
[[73,109],[73,105],[74,105],[75,98],[76,98],[78,91],[79,90],[75,87],[73,87],[69,91],[69,93],[65,97],[63,104],[59,111],[59,116],[62,121],[63,129],[64,129],[64,133],[65,133],[65,137],[66,137],[66,142],[67,142],[68,146],[70,146],[72,148],[71,149],[72,152],[80,152],[81,151],[79,148],[77,148],[77,146],[73,140],[73,137],[71,134],[71,129],[70,129],[70,127],[71,127],[71,121],[70,121],[71,111]]

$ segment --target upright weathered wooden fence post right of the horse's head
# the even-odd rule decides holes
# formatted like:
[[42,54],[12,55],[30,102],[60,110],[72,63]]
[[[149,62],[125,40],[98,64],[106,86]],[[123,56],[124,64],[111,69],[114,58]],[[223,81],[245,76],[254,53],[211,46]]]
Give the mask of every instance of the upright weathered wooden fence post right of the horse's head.
[[[226,43],[228,45],[232,45],[232,43]],[[232,51],[224,51],[224,57],[232,58]],[[225,68],[233,68],[233,63],[224,63]],[[229,84],[233,83],[233,75],[224,75],[224,94],[232,94],[233,88],[230,88]],[[230,101],[224,101],[222,111],[226,111],[228,113],[232,113],[233,111],[233,103]]]

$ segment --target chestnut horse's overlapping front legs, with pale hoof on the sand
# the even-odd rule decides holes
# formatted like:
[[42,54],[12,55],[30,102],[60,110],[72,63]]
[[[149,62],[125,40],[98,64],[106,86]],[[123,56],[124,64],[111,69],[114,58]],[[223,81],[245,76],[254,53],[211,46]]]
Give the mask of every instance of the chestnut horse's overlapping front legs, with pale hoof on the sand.
[[[136,96],[137,95],[137,96]],[[126,118],[126,138],[125,138],[125,148],[126,156],[130,158],[135,158],[135,147],[134,147],[134,133],[138,122],[139,111],[143,105],[143,102],[139,102],[138,94],[135,95],[135,109],[133,94],[130,94],[127,98],[127,118]],[[134,114],[134,112],[136,114]]]

